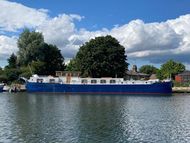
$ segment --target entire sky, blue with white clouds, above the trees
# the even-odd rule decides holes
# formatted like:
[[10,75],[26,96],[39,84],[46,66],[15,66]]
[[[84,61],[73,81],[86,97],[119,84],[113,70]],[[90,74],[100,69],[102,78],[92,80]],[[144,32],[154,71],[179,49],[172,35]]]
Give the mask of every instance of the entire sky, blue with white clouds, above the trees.
[[130,65],[159,67],[173,59],[190,69],[188,0],[0,0],[0,10],[1,67],[27,27],[57,45],[66,62],[85,42],[111,35]]

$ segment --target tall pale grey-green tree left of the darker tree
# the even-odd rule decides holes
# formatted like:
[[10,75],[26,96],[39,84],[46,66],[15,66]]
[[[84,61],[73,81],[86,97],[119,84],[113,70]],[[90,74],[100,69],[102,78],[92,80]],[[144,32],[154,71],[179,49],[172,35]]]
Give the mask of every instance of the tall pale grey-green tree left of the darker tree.
[[18,63],[20,65],[27,66],[33,60],[36,61],[36,55],[39,54],[39,47],[44,44],[44,37],[42,33],[24,29],[20,34],[17,41],[18,51]]

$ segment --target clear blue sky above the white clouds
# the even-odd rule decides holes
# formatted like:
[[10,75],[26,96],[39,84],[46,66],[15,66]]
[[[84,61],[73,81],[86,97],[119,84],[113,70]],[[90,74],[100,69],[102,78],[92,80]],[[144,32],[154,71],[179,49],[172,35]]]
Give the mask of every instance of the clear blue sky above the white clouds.
[[28,7],[48,9],[54,17],[60,13],[84,16],[77,27],[88,30],[113,28],[134,19],[161,22],[190,13],[188,0],[12,0]]

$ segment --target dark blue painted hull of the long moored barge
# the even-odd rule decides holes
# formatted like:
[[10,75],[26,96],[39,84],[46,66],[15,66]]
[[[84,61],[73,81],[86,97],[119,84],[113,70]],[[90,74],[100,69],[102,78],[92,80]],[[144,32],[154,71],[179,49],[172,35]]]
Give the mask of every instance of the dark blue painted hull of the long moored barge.
[[93,93],[93,94],[168,94],[172,92],[171,82],[154,83],[151,85],[103,85],[103,84],[26,84],[28,92],[63,92],[63,93]]

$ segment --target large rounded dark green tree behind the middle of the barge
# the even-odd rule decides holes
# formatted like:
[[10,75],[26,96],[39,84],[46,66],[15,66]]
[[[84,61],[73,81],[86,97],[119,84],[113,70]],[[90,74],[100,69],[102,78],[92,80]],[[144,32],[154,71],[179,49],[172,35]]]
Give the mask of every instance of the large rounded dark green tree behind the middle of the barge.
[[125,48],[111,37],[96,37],[80,47],[76,66],[82,76],[123,77],[128,67]]

